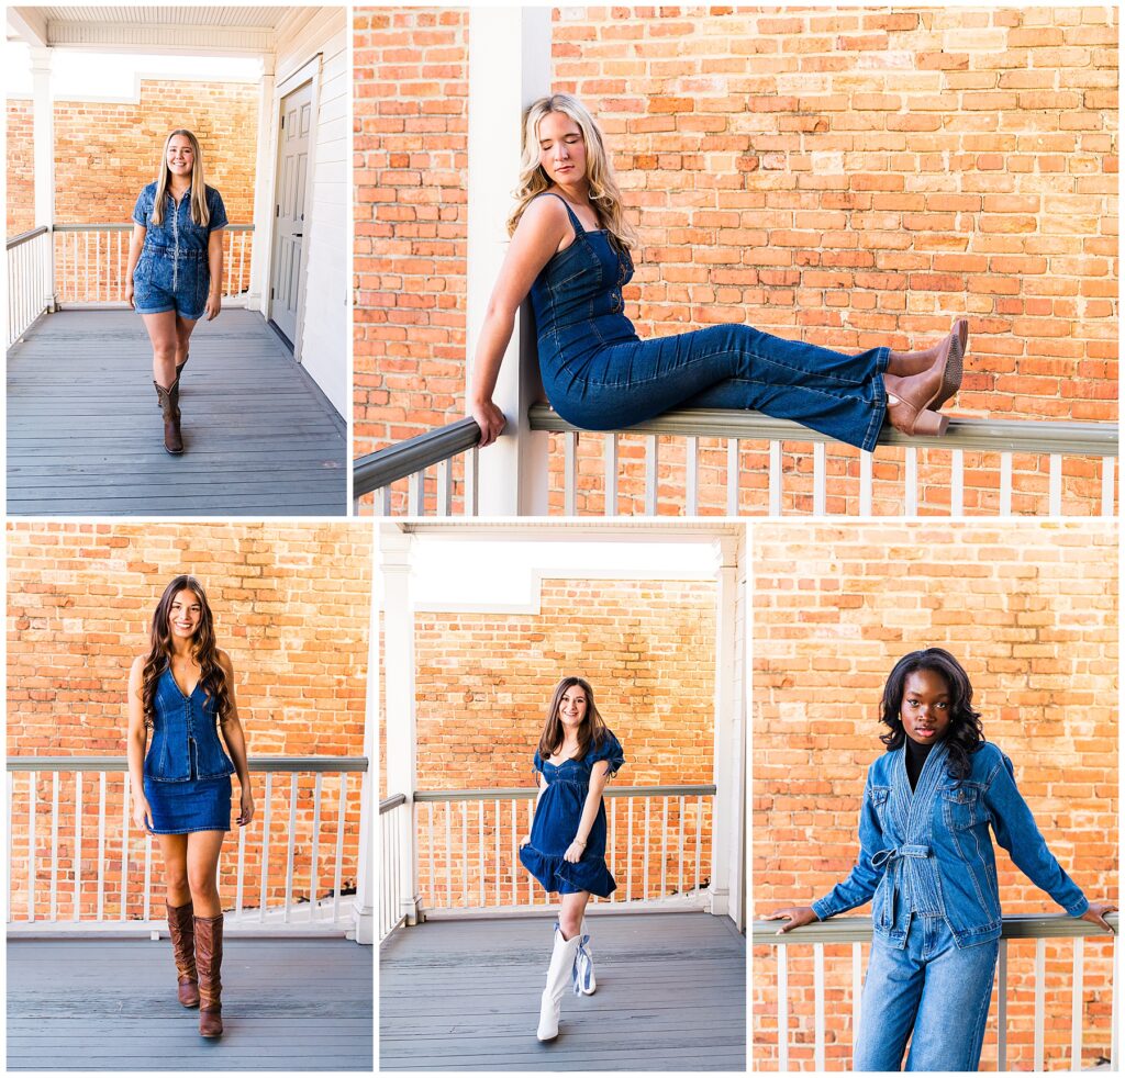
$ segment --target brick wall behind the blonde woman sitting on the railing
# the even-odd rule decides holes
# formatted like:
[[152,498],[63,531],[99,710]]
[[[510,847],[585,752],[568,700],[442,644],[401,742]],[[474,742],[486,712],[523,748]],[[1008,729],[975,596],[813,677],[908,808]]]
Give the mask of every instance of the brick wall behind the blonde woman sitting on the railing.
[[[442,15],[456,48],[440,61],[459,64],[460,76],[453,67],[421,73],[438,62],[434,12],[395,18],[357,24],[364,55],[390,54],[357,71],[357,124],[379,130],[382,114],[370,102],[396,101],[394,80],[406,72],[418,97],[394,107],[460,118],[456,132],[440,120],[433,135],[420,124],[413,137],[398,118],[382,156],[368,151],[382,161],[393,145],[399,174],[420,180],[425,198],[441,191],[450,221],[442,250],[458,254],[443,262],[422,246],[414,207],[393,179],[367,191],[357,181],[358,212],[382,221],[378,272],[390,282],[380,298],[363,283],[377,279],[364,278],[375,262],[357,264],[359,302],[370,308],[357,337],[361,452],[462,415],[464,248],[448,244],[464,237],[464,192],[431,163],[465,151],[462,15]],[[579,7],[554,19],[552,83],[598,117],[639,214],[639,265],[626,296],[641,337],[747,321],[858,351],[928,344],[968,315],[960,414],[1116,418],[1116,9]],[[389,161],[378,167],[395,174]],[[403,310],[394,297],[407,274],[424,281],[410,302],[430,314]],[[438,309],[449,292],[458,302]],[[639,441],[624,442],[624,455],[638,459]],[[809,447],[786,447],[785,507],[808,508]],[[721,511],[724,449],[703,442],[701,452],[701,511]],[[601,511],[602,440],[583,438],[578,454],[579,509]],[[662,444],[663,511],[682,511],[683,454],[682,442]],[[560,446],[552,459],[551,508],[560,511]],[[741,505],[760,510],[765,454],[746,449],[741,461]],[[881,451],[880,462],[875,511],[900,511],[901,452]],[[1014,464],[1016,490],[1028,491],[1017,510],[1045,505],[1046,459]],[[966,454],[965,465],[966,511],[994,509],[996,454]],[[856,454],[832,453],[829,469],[857,475]],[[922,454],[921,511],[948,510],[947,469],[946,454]],[[1069,511],[1094,511],[1098,469],[1068,464]],[[835,482],[837,510],[855,511],[854,478]],[[619,508],[636,510],[642,496],[632,468]]]

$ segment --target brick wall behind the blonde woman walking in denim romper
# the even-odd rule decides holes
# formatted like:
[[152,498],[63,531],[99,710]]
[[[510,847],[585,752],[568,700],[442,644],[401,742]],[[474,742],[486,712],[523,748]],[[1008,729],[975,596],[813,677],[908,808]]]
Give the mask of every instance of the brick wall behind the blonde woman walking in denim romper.
[[[219,190],[232,225],[253,223],[258,148],[259,87],[243,82],[153,80],[141,82],[137,103],[55,102],[55,220],[58,224],[127,224],[136,197],[156,178],[160,152],[170,130],[194,132],[204,152],[207,182]],[[34,227],[32,103],[8,101],[8,232]],[[122,298],[128,232],[101,234],[89,250],[79,235],[55,241],[61,298]],[[106,244],[111,255],[107,254]],[[243,241],[238,239],[238,245]],[[245,239],[242,279],[228,259],[226,287],[249,284],[252,237]],[[92,271],[100,253],[102,272]],[[89,268],[89,269],[88,269]]]

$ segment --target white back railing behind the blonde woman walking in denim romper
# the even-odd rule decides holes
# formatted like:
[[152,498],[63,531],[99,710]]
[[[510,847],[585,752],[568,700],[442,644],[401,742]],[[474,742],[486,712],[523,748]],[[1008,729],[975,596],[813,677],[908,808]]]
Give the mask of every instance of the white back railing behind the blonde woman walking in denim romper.
[[[237,306],[250,288],[253,225],[227,225],[223,236],[223,300]],[[55,225],[55,300],[60,307],[125,302],[133,225]]]

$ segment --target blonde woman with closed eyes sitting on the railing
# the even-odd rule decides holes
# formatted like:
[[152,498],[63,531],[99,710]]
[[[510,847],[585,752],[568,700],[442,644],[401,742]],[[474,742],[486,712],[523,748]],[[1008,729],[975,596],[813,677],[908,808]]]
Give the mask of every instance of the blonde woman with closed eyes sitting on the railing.
[[593,431],[632,426],[672,408],[755,409],[837,441],[874,449],[884,419],[907,434],[943,434],[942,407],[961,386],[969,326],[918,352],[846,355],[744,325],[641,341],[621,289],[636,244],[602,133],[566,93],[524,117],[512,237],[477,345],[468,410],[480,445],[504,415],[493,391],[515,312],[529,293],[543,389],[555,410]]

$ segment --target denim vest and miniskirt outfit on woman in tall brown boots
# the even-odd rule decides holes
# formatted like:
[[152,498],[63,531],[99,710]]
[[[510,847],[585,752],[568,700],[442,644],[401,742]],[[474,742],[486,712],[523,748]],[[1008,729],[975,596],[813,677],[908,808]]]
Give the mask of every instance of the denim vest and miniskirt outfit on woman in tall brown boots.
[[214,700],[201,683],[184,696],[168,667],[156,681],[153,707],[144,759],[153,834],[230,831],[234,764],[218,740]]

